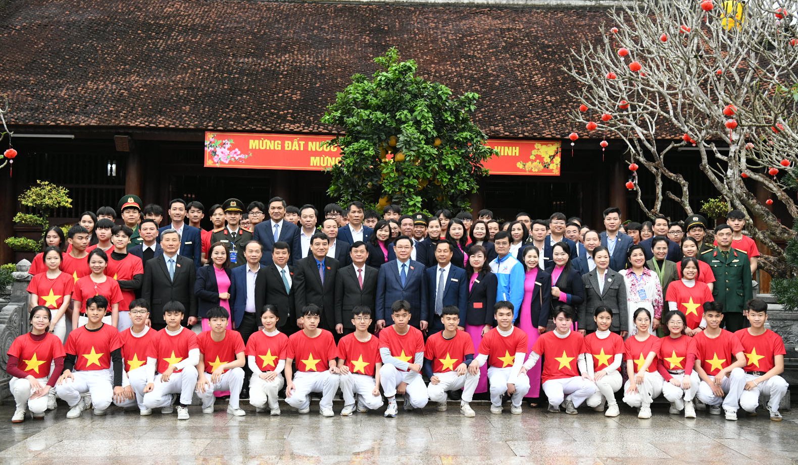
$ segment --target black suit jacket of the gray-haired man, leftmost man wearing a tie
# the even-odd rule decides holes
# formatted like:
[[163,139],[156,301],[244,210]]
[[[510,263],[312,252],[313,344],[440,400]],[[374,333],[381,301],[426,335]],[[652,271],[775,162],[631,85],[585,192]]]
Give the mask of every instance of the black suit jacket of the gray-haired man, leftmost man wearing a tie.
[[169,270],[164,254],[156,255],[144,264],[144,283],[141,298],[150,304],[150,320],[156,326],[164,326],[164,304],[176,300],[186,307],[183,325],[188,326],[188,317],[197,315],[197,295],[194,291],[196,267],[187,256],[175,256],[175,279],[169,279]]

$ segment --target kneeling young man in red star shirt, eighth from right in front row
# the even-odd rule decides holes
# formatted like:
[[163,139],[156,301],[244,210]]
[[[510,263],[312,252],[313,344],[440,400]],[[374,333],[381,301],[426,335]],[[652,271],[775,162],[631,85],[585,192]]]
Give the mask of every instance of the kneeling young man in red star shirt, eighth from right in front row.
[[468,333],[457,329],[460,326],[460,309],[457,307],[444,307],[440,321],[444,330],[429,336],[424,347],[424,373],[429,377],[429,400],[438,403],[438,412],[445,412],[447,392],[463,389],[460,412],[464,416],[474,416],[469,404],[480,382],[479,373],[468,372],[468,365],[474,361],[474,342]]

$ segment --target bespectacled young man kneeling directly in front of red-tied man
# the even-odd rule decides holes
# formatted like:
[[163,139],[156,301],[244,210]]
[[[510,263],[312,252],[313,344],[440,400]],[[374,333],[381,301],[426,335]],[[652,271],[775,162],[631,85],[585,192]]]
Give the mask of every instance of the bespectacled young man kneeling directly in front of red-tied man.
[[341,370],[341,393],[344,397],[342,416],[350,416],[355,409],[368,412],[382,407],[380,396],[380,340],[369,333],[371,309],[357,305],[352,309],[354,333],[338,341],[338,369]]

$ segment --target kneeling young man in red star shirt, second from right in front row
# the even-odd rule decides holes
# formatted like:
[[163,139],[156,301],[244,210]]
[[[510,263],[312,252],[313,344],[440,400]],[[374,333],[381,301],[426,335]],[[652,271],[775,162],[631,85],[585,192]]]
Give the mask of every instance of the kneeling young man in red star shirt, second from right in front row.
[[740,339],[731,331],[721,329],[721,303],[704,303],[706,329],[693,336],[689,351],[696,355],[696,372],[701,378],[698,399],[709,405],[709,413],[721,414],[726,420],[737,420],[737,409],[745,387],[745,355]]

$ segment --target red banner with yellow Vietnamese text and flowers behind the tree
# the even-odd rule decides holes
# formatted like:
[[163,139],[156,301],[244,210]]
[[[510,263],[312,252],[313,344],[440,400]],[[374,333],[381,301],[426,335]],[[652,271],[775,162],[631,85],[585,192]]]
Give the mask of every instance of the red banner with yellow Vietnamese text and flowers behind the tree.
[[[205,133],[207,168],[261,170],[326,170],[338,163],[338,147],[326,147],[329,135]],[[485,162],[491,174],[559,176],[559,141],[488,139],[499,152]]]

